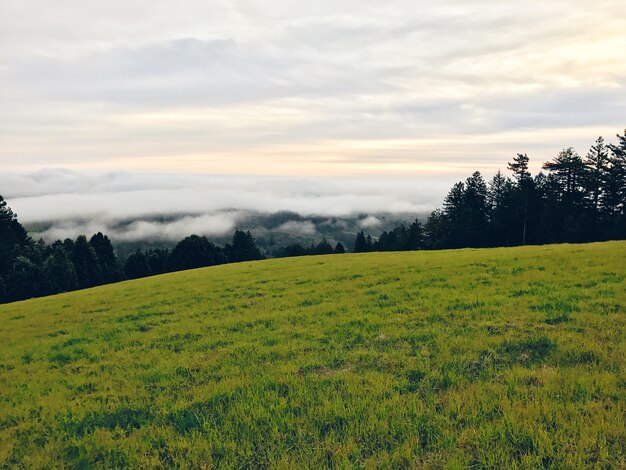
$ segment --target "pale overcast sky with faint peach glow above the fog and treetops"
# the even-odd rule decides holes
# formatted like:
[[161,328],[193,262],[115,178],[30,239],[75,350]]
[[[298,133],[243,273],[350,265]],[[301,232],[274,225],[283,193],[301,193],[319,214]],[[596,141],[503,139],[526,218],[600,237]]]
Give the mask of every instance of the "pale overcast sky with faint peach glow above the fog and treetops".
[[[61,186],[42,196],[32,181],[59,172],[122,175],[163,198],[185,175],[222,175],[221,187],[247,177],[260,199],[293,188],[282,205],[303,178],[329,194],[347,178],[377,181],[395,207],[412,178],[414,204],[436,205],[457,179],[505,171],[517,152],[538,169],[622,132],[623,10],[622,0],[2,0],[0,194],[20,193],[36,220],[36,198],[55,200],[67,182],[52,176],[43,186]],[[84,199],[102,186],[68,187]]]

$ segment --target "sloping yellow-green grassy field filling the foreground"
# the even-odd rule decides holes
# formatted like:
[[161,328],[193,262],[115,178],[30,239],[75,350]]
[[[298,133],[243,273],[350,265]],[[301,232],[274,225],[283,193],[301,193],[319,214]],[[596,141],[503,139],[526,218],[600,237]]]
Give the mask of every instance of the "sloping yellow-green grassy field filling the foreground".
[[626,466],[624,242],[219,266],[0,338],[0,466]]

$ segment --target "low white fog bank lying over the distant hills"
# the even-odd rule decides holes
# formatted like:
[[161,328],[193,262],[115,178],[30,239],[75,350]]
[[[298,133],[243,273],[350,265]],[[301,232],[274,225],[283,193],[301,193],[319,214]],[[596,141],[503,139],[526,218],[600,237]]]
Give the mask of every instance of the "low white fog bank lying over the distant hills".
[[[221,236],[253,213],[293,211],[328,217],[424,213],[441,204],[450,178],[294,178],[180,174],[79,173],[65,169],[3,173],[0,194],[36,236],[46,240],[104,231],[118,241]],[[380,220],[368,216],[363,228]],[[314,236],[310,220],[288,220],[278,232]]]

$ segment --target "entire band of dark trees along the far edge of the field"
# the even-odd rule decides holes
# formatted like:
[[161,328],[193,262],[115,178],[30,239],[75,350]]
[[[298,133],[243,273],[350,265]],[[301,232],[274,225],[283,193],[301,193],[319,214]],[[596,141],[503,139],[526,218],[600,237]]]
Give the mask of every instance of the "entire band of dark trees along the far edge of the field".
[[[584,243],[626,239],[626,131],[616,143],[599,137],[583,157],[566,148],[532,175],[530,159],[517,154],[485,181],[480,172],[455,184],[426,220],[400,224],[377,238],[361,231],[351,251],[436,250],[466,247]],[[224,263],[341,254],[326,239],[262,253],[249,231],[235,230],[218,246],[190,235],[172,250],[139,249],[124,262],[109,237],[35,241],[0,196],[0,302],[51,295],[166,272]]]

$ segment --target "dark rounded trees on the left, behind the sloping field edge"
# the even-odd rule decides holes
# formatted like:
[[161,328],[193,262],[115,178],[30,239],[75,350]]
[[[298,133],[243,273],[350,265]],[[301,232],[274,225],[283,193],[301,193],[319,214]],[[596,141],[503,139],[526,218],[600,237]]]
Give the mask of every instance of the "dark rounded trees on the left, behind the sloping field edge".
[[191,235],[171,251],[137,250],[121,263],[100,232],[90,239],[34,241],[0,196],[0,303],[263,257],[250,232],[235,230],[224,247]]

